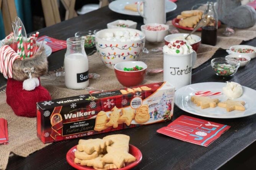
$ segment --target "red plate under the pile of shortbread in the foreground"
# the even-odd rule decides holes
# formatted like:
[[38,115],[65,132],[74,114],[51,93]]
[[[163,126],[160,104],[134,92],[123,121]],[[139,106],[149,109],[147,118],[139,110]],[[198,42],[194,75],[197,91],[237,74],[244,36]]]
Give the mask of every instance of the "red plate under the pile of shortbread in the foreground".
[[[67,152],[66,159],[67,159],[67,162],[69,163],[69,165],[71,165],[72,167],[74,167],[76,169],[80,169],[80,170],[92,170],[92,169],[94,169],[93,167],[83,166],[83,165],[80,165],[80,164],[77,164],[77,163],[74,162],[76,146],[77,145],[75,145],[73,148],[69,149],[69,151]],[[129,153],[131,155],[133,155],[134,157],[136,157],[136,161],[131,162],[129,164],[125,163],[125,167],[120,168],[119,170],[129,170],[130,168],[135,167],[136,165],[139,164],[139,162],[141,162],[142,154],[141,154],[141,151],[139,151],[138,148],[129,144]]]

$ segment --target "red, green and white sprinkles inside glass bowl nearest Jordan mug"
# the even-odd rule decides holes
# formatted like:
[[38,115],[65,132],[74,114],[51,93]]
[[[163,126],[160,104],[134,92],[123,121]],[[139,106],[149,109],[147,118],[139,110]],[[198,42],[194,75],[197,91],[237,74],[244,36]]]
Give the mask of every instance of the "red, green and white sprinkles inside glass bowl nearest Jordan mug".
[[217,64],[213,69],[218,75],[227,77],[235,73],[236,67],[230,64]]

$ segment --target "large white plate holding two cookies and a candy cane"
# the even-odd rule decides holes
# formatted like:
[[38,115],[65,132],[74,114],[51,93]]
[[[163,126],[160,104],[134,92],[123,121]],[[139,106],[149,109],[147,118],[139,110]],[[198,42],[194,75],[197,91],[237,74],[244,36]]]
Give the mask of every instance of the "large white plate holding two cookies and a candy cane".
[[[187,85],[185,87],[179,88],[175,92],[174,103],[180,109],[189,112],[191,114],[203,116],[203,117],[212,117],[212,118],[221,118],[221,119],[230,119],[238,117],[246,117],[256,113],[256,90],[253,90],[248,87],[243,87],[243,95],[240,98],[234,100],[243,100],[245,101],[245,111],[231,111],[227,112],[226,108],[215,107],[201,109],[197,107],[191,100],[190,97],[195,95],[196,91],[212,91],[212,92],[222,92],[222,87],[226,83],[218,82],[207,82],[207,83],[196,83]],[[218,98],[220,101],[226,101],[227,97],[225,95],[215,95],[209,96],[210,98]]]

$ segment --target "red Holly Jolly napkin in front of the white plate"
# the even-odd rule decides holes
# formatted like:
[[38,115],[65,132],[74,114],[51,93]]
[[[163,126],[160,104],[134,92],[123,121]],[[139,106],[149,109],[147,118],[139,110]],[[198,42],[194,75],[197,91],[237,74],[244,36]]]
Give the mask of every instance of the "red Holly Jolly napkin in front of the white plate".
[[207,147],[218,139],[230,126],[181,115],[158,133]]

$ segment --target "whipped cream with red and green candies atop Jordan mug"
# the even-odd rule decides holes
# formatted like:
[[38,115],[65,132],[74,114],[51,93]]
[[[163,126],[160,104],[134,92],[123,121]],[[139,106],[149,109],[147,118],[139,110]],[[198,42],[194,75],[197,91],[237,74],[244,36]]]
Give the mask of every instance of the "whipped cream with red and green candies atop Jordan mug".
[[163,47],[163,52],[168,54],[183,55],[192,53],[192,47],[182,40],[171,41],[168,45]]

